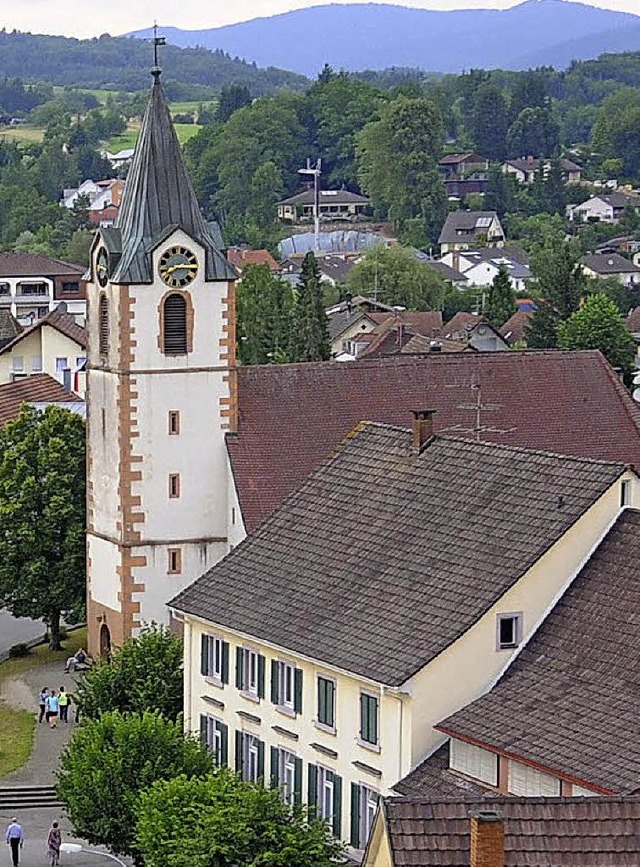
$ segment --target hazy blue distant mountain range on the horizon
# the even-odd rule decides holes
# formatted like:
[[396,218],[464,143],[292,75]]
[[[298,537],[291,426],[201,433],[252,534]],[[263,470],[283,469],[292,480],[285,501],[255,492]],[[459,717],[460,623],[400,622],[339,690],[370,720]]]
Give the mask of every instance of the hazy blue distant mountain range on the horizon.
[[[175,45],[222,49],[260,66],[311,76],[325,63],[352,71],[391,66],[431,72],[562,68],[573,59],[640,50],[640,15],[566,0],[526,0],[501,11],[453,12],[333,4],[210,30],[159,30]],[[152,34],[140,30],[129,35]]]

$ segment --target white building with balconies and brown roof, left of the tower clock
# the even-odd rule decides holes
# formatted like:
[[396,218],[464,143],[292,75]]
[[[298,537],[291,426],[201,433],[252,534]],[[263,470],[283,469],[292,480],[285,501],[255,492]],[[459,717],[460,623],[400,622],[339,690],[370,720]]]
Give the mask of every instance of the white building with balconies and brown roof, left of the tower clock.
[[83,323],[86,317],[84,268],[39,253],[0,253],[0,308],[21,325],[46,316],[61,301]]

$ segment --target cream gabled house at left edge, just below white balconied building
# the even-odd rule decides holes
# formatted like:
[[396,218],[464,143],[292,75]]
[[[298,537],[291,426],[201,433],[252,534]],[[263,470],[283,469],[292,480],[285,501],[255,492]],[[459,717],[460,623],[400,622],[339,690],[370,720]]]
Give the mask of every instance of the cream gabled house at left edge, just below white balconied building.
[[84,396],[86,355],[86,331],[61,302],[0,347],[0,383],[46,373]]

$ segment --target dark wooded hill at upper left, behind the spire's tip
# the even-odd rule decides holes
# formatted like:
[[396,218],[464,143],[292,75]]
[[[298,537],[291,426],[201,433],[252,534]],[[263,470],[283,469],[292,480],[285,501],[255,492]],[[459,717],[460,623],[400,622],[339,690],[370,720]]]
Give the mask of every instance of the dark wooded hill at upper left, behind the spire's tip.
[[[75,87],[139,90],[149,83],[153,52],[148,43],[125,37],[67,39],[0,32],[0,76],[47,81]],[[300,89],[306,79],[280,69],[258,69],[222,51],[205,48],[163,49],[168,78],[185,84],[220,89],[229,82],[246,85],[252,94],[273,93],[278,87]]]

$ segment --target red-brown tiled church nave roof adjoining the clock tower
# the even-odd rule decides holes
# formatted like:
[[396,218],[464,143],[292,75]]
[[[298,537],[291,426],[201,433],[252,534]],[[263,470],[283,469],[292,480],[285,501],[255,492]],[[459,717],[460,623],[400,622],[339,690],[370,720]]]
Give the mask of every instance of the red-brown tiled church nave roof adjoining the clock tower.
[[436,430],[474,436],[473,385],[492,408],[487,441],[640,467],[640,409],[597,351],[394,356],[238,371],[238,433],[227,447],[249,532],[362,420],[407,425],[438,410]]

